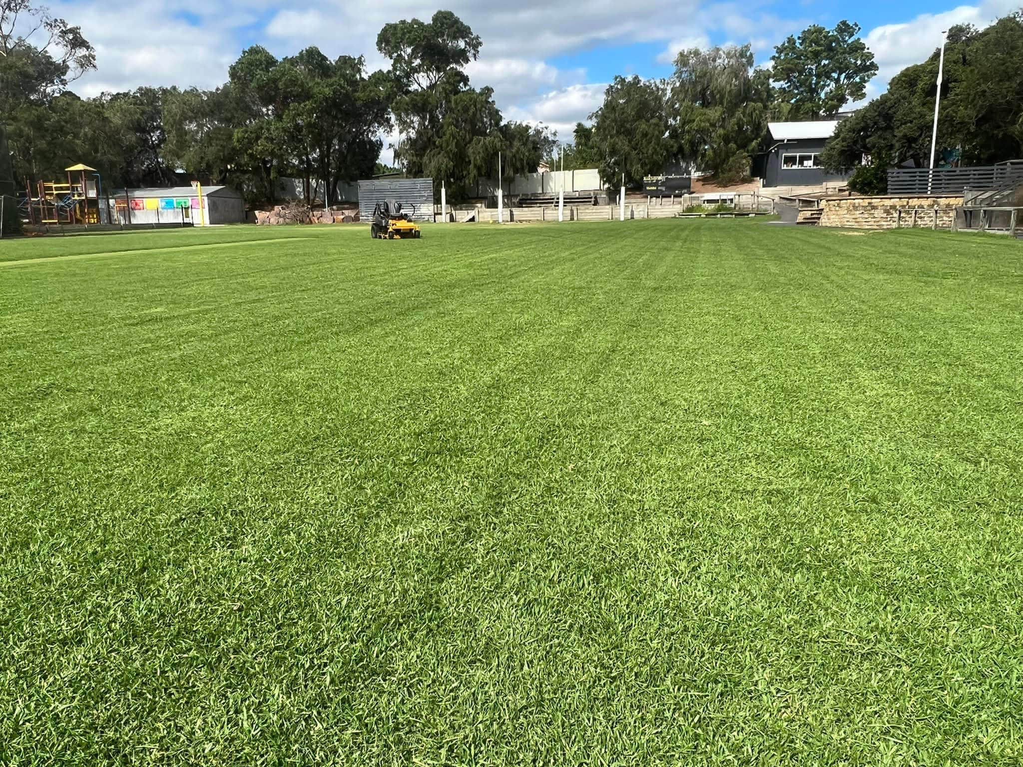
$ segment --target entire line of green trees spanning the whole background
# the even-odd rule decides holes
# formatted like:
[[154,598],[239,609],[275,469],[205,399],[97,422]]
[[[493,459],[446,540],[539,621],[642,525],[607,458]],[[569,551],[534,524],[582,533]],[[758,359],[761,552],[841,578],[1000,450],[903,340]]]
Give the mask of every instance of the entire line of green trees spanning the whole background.
[[[33,0],[0,0],[0,117],[14,178],[59,177],[87,162],[109,185],[165,185],[179,170],[272,200],[275,181],[313,180],[328,194],[380,170],[381,136],[397,132],[396,164],[444,179],[458,198],[493,178],[535,171],[561,149],[566,169],[598,168],[610,186],[665,168],[693,167],[723,183],[749,174],[767,148],[770,120],[836,117],[862,100],[877,74],[860,28],[814,25],[756,66],[750,45],[688,49],[662,80],[616,77],[589,125],[561,142],[548,129],[505,122],[489,87],[474,88],[465,66],[482,41],[450,11],[429,21],[386,25],[376,39],[387,70],[362,57],[329,58],[315,47],[277,58],[244,50],[219,88],[141,87],[81,98],[69,85],[96,66],[81,31]],[[1023,16],[986,30],[949,32],[939,141],[964,162],[1023,155]],[[922,166],[930,150],[937,52],[895,77],[888,92],[844,120],[825,152],[832,169],[861,166],[869,183],[885,164]],[[333,201],[328,199],[327,201]]]

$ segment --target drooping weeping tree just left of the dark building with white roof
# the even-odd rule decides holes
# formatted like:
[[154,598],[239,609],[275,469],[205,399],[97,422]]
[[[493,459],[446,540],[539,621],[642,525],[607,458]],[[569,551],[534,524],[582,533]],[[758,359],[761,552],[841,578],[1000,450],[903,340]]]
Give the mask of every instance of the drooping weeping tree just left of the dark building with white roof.
[[766,134],[770,102],[770,73],[753,69],[749,45],[681,51],[668,105],[679,156],[719,181],[739,181]]

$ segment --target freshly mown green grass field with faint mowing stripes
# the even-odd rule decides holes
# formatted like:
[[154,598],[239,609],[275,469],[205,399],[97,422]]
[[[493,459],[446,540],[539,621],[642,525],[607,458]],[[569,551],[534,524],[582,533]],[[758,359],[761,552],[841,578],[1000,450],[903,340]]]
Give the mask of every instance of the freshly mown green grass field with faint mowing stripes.
[[0,260],[2,764],[1023,760],[1023,243]]

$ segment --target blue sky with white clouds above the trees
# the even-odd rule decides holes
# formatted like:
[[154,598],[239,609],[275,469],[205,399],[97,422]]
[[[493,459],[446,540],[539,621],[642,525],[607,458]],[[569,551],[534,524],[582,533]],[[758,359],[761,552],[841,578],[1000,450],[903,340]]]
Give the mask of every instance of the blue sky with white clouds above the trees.
[[281,56],[308,45],[331,56],[361,54],[375,69],[386,63],[375,50],[384,24],[447,8],[483,38],[480,60],[470,66],[474,85],[494,88],[506,119],[542,122],[563,137],[599,105],[616,74],[665,77],[681,47],[750,42],[763,63],[786,36],[848,18],[862,27],[881,67],[869,89],[874,96],[903,66],[926,58],[940,44],[941,30],[964,21],[984,26],[1020,5],[1023,0],[322,0],[301,6],[204,0],[179,10],[166,0],[51,3],[96,46],[98,71],[74,85],[83,95],[143,84],[213,87],[255,43]]

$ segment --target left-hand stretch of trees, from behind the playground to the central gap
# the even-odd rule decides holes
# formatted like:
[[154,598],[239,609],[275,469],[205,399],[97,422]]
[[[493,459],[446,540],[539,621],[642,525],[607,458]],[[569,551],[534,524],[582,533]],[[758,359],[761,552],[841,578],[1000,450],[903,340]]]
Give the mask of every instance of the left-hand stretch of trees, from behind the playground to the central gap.
[[492,89],[470,86],[464,67],[481,45],[455,14],[438,11],[384,27],[385,71],[315,47],[278,59],[257,45],[219,88],[81,98],[69,85],[96,65],[81,31],[30,0],[0,0],[0,116],[18,179],[59,178],[82,161],[108,185],[173,184],[180,169],[254,200],[272,200],[278,178],[303,179],[307,196],[326,180],[332,202],[338,183],[379,170],[381,135],[397,130],[401,169],[445,179],[458,196],[496,175],[499,153],[511,178],[535,171],[554,143],[543,127],[505,122]]

